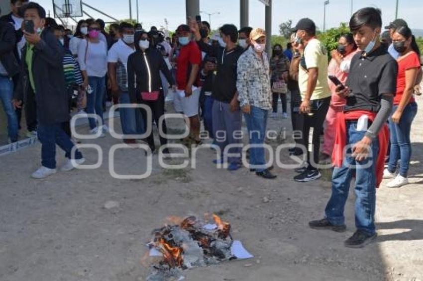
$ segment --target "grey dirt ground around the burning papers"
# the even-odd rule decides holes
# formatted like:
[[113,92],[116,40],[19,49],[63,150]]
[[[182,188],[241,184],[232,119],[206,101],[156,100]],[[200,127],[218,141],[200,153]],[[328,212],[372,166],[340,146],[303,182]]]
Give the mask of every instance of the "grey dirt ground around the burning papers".
[[[418,103],[423,107],[422,97]],[[216,169],[215,155],[207,148],[199,150],[196,169],[160,168],[156,155],[149,178],[118,180],[110,176],[107,163],[109,148],[120,141],[110,136],[92,141],[104,150],[100,168],[58,172],[41,181],[29,178],[39,165],[39,144],[3,156],[0,280],[145,280],[150,269],[141,259],[151,230],[168,216],[205,212],[229,221],[233,237],[255,258],[188,270],[186,280],[423,280],[422,121],[420,110],[412,134],[411,184],[388,189],[383,183],[377,193],[379,237],[364,249],[343,246],[355,230],[353,190],[346,207],[347,232],[308,227],[309,220],[322,217],[330,195],[327,172],[324,179],[303,184],[293,181],[293,170],[276,167],[278,178],[266,181],[246,168]],[[290,128],[288,122],[272,119],[269,129]],[[97,161],[94,149],[82,151],[88,163]],[[60,150],[58,154],[60,166],[64,157]],[[293,162],[287,154],[282,152],[282,159]],[[133,148],[117,150],[114,163],[118,173],[142,173],[146,167],[142,151]],[[109,201],[115,207],[105,208]]]

